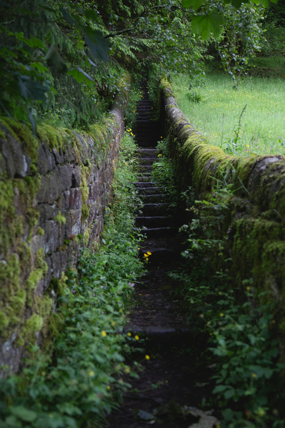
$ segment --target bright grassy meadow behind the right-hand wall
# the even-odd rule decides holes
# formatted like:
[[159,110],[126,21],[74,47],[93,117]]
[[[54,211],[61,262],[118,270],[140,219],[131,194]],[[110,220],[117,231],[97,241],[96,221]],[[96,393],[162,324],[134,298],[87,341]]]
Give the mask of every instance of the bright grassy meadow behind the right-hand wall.
[[204,83],[192,101],[188,77],[171,78],[180,110],[209,144],[238,156],[285,154],[285,80],[248,76],[235,91],[232,77],[215,71]]

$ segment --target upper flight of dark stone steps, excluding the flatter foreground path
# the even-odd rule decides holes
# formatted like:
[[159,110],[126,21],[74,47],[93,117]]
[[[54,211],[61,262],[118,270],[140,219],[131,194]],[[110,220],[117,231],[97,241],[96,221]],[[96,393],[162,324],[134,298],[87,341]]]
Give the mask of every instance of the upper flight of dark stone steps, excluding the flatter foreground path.
[[[162,127],[159,121],[154,119],[154,106],[149,99],[147,82],[142,82],[141,90],[143,99],[138,102],[137,124],[135,128],[138,149],[136,158],[138,166],[137,188],[141,204],[137,204],[138,215],[136,224],[143,229],[146,239],[141,246],[141,257],[149,251],[152,253],[151,263],[167,262],[177,259],[177,232],[174,224],[173,212],[169,209],[169,198],[165,189],[159,183],[153,181],[153,163],[159,160],[157,142],[163,137]],[[170,240],[171,237],[171,240]]]

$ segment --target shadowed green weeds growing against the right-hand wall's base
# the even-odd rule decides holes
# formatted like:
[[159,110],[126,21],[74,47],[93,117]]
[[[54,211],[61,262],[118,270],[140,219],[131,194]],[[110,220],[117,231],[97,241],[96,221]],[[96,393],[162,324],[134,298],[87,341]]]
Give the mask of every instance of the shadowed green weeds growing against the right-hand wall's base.
[[[220,227],[232,194],[231,187],[220,184],[209,201],[195,201],[191,189],[184,193],[192,213],[182,226],[188,232],[188,249],[181,269],[170,276],[180,282],[177,293],[192,333],[205,344],[194,351],[197,363],[212,368],[212,396],[203,405],[220,412],[222,428],[282,428],[285,365],[279,362],[273,304],[266,293],[256,296],[252,277],[238,286],[226,269],[213,272],[210,265],[212,258],[223,260],[223,266],[232,263],[226,259],[225,241],[211,234]],[[257,306],[257,300],[263,303]]]

